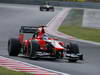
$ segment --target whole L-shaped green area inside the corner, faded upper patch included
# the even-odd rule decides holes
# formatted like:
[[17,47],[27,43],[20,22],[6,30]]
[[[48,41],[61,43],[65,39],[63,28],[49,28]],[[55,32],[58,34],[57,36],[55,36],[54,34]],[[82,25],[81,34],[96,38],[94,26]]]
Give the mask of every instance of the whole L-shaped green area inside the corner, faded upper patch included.
[[100,29],[82,27],[83,9],[72,9],[59,31],[79,39],[100,42]]

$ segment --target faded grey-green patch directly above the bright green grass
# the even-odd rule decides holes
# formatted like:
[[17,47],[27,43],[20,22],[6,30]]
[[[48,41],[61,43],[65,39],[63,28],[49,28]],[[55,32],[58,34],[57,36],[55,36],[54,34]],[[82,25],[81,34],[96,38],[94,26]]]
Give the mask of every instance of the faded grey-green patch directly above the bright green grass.
[[67,18],[64,20],[63,25],[78,25],[82,24],[83,9],[71,9]]

